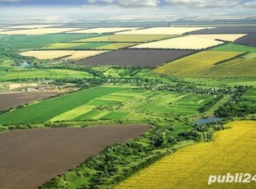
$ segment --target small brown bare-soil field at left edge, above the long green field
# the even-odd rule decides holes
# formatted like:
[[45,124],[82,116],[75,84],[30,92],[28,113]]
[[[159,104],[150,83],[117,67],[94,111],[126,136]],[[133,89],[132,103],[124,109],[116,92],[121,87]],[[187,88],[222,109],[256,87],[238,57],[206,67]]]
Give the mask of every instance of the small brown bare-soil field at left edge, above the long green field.
[[46,99],[50,96],[57,95],[54,92],[33,92],[33,93],[6,93],[0,94],[0,111],[16,108],[19,105],[32,103],[36,100]]

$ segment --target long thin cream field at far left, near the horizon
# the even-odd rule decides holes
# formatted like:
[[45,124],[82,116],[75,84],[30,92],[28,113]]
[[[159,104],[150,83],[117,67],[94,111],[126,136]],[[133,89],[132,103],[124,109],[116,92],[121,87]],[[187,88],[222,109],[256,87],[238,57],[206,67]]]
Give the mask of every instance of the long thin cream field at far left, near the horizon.
[[27,30],[9,30],[1,31],[0,35],[47,35],[47,34],[57,34],[66,31],[79,30],[81,28],[37,28],[37,29],[27,29]]

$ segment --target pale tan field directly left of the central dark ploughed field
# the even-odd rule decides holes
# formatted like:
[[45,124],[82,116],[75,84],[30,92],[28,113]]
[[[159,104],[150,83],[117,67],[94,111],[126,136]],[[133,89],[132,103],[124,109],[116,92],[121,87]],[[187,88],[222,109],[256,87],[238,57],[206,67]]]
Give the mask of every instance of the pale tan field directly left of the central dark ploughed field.
[[40,50],[40,51],[27,51],[21,53],[22,56],[34,57],[37,59],[54,59],[62,58],[64,60],[80,60],[83,58],[89,58],[100,53],[106,53],[107,51],[74,51],[74,50]]

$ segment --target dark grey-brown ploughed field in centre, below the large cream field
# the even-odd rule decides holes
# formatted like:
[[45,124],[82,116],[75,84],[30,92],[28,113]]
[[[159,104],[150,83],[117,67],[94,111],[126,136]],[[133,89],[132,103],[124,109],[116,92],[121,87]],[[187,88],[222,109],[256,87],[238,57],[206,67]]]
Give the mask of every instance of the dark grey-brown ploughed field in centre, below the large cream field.
[[157,67],[193,52],[191,50],[121,49],[84,59],[78,64]]

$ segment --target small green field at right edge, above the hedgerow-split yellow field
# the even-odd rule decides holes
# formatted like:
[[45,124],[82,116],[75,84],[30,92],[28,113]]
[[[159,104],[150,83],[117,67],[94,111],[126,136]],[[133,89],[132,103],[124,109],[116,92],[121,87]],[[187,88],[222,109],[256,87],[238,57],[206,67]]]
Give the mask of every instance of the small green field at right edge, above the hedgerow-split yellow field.
[[211,51],[230,51],[230,52],[250,52],[256,53],[255,47],[249,47],[243,44],[224,44],[216,48],[211,48]]

